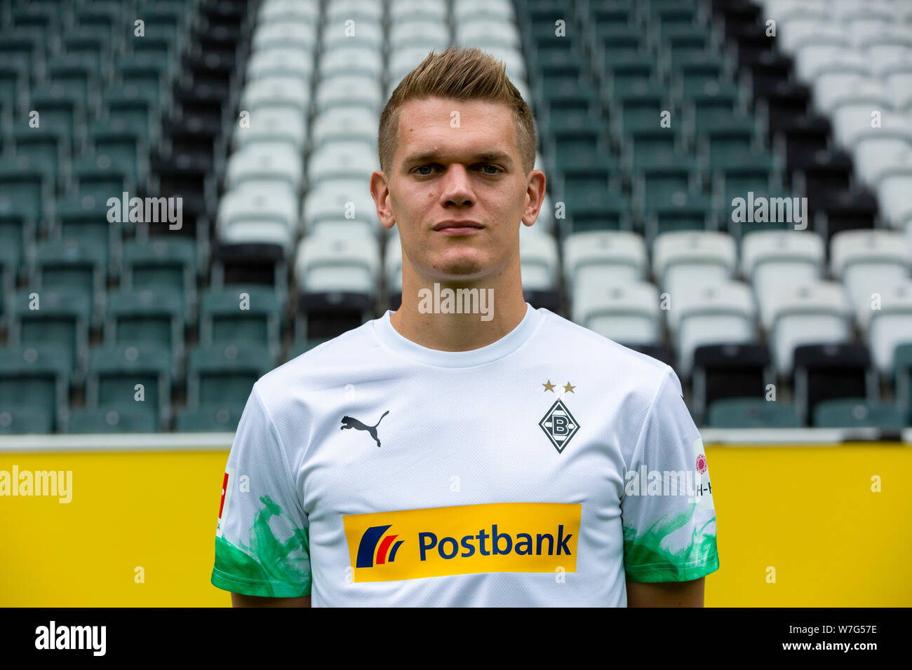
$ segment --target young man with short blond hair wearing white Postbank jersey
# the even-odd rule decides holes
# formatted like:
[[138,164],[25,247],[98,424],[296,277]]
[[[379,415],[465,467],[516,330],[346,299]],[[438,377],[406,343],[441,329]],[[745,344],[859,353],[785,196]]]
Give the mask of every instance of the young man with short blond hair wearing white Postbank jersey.
[[212,583],[236,606],[701,606],[715,510],[678,377],[523,300],[545,180],[503,64],[427,57],[378,148],[402,305],[256,382]]

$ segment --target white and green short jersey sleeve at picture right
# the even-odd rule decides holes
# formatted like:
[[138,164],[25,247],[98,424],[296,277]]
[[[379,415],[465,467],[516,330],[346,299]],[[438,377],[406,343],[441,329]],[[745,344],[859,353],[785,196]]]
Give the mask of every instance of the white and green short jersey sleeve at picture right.
[[629,581],[689,582],[719,569],[703,441],[670,367],[627,463],[621,520]]

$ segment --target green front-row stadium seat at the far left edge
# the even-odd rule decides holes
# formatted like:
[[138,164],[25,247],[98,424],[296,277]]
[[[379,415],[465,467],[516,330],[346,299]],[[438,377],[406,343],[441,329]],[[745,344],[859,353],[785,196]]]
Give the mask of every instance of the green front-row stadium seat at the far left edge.
[[[44,410],[50,415],[50,431],[57,430],[67,417],[70,376],[69,356],[62,349],[33,345],[0,348],[0,407],[11,412],[19,408]],[[44,419],[34,415],[24,419],[29,426],[39,420]]]

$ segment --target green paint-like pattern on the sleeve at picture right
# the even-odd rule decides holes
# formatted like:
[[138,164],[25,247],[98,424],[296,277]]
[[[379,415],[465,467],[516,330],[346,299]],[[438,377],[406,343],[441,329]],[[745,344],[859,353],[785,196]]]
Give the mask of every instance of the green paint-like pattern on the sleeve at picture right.
[[719,569],[716,535],[706,530],[716,521],[715,515],[695,528],[688,544],[679,551],[661,546],[669,533],[689,524],[693,514],[691,508],[665,521],[666,514],[643,533],[624,527],[624,567],[631,582],[689,582]]

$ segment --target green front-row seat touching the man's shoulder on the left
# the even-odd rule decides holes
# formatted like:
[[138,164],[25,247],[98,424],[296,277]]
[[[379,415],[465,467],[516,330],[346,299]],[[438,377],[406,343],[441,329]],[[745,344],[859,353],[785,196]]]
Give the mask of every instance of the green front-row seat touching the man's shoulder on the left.
[[187,356],[187,407],[241,403],[254,383],[275,367],[264,349],[235,345],[197,346]]

